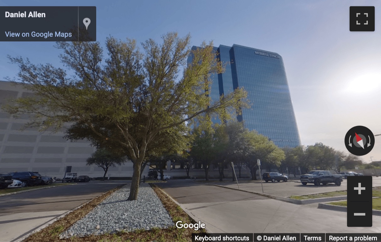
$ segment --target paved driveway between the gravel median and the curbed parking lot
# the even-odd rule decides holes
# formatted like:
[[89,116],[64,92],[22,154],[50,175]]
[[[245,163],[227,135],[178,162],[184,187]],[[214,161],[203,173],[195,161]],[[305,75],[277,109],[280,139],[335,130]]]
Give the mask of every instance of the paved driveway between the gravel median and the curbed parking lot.
[[[280,189],[285,188],[281,185],[290,186],[291,183],[267,185]],[[318,209],[317,204],[296,205],[248,192],[186,181],[170,181],[157,186],[177,200],[184,210],[196,218],[196,222],[205,223],[207,231],[212,233],[381,232],[381,216],[373,216],[371,228],[348,228],[346,213]],[[314,189],[313,186],[311,188]]]

